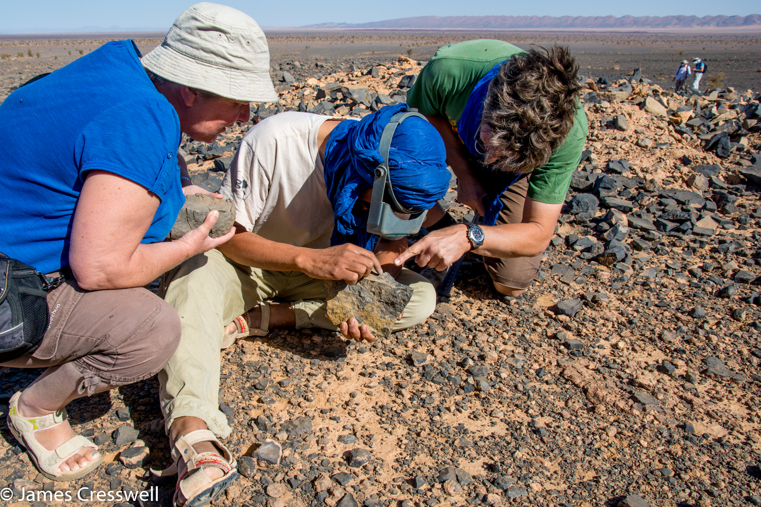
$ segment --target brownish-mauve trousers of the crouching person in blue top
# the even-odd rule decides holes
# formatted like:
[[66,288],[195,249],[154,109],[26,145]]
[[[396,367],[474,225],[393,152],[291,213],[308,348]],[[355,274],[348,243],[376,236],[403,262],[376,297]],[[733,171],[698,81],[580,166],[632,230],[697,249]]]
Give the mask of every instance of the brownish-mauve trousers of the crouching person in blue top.
[[180,317],[142,288],[83,290],[75,280],[47,296],[50,325],[33,353],[2,366],[44,368],[64,363],[91,395],[101,382],[127,385],[155,375],[180,344]]

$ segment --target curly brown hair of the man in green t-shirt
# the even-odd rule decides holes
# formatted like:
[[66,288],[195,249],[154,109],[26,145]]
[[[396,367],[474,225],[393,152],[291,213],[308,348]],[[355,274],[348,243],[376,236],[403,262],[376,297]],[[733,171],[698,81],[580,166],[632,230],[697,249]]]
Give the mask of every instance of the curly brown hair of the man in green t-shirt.
[[499,68],[484,101],[481,128],[496,170],[530,173],[547,163],[573,127],[581,85],[567,46],[534,46]]

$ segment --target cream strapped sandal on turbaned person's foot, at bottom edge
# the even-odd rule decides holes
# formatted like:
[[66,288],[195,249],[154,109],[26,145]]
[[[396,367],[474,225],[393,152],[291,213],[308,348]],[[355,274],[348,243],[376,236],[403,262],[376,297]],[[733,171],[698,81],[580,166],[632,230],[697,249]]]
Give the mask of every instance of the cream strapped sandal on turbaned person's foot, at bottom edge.
[[[214,442],[221,449],[222,454],[218,452],[196,452],[193,445],[199,442]],[[177,476],[177,486],[174,490],[174,505],[177,505],[177,499],[180,493],[185,498],[183,507],[200,507],[211,502],[217,496],[221,495],[230,484],[240,477],[237,473],[237,461],[214,433],[208,429],[198,429],[186,435],[180,436],[177,442],[174,442],[172,449],[172,460],[174,464],[163,471],[154,471],[151,474],[156,477],[167,477],[177,474],[177,464],[180,458],[185,462],[185,471]],[[221,468],[224,475],[216,480],[212,480],[209,475],[203,471],[205,467]],[[196,471],[193,473],[193,471]]]

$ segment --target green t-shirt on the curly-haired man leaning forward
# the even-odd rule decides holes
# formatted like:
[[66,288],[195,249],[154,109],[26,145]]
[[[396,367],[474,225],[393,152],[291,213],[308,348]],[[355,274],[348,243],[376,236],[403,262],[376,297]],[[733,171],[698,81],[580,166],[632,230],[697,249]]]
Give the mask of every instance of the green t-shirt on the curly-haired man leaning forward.
[[[407,93],[407,103],[425,116],[449,120],[457,132],[470,92],[492,67],[522,49],[500,40],[467,40],[443,46],[434,55]],[[549,157],[545,166],[530,174],[528,196],[547,204],[565,200],[571,175],[581,160],[587,140],[587,115],[579,104],[571,132]]]

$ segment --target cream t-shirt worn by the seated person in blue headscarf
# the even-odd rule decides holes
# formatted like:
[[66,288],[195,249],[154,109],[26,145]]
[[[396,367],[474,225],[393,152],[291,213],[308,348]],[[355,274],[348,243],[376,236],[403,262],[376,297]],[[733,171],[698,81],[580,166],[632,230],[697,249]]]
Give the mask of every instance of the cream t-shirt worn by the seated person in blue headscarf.
[[323,249],[333,234],[317,131],[330,116],[282,112],[240,141],[219,193],[235,203],[235,221],[263,238]]

